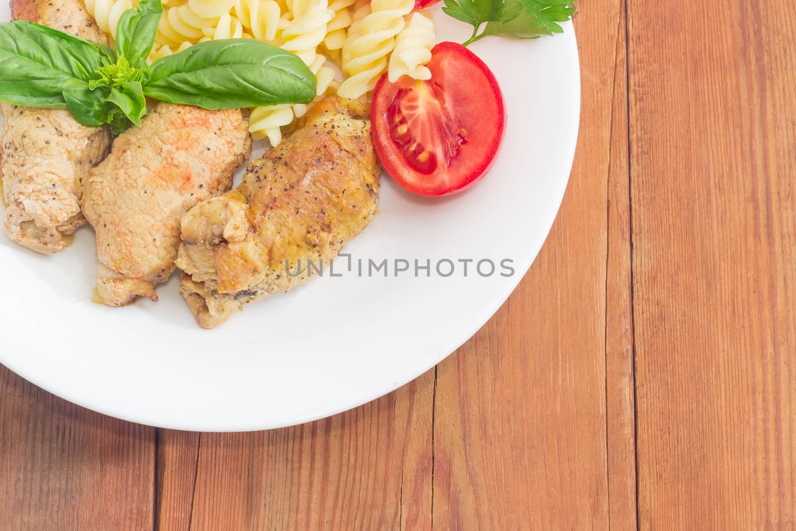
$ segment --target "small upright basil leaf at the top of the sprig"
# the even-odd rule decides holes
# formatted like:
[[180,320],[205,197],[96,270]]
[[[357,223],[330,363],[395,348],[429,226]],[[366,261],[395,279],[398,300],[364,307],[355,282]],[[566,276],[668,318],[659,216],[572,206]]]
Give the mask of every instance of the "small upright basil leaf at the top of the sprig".
[[126,56],[133,66],[146,61],[162,13],[161,0],[141,0],[137,9],[125,11],[116,26],[116,53]]

